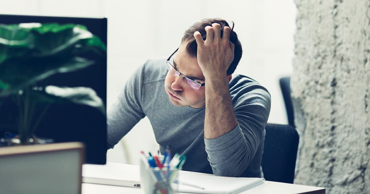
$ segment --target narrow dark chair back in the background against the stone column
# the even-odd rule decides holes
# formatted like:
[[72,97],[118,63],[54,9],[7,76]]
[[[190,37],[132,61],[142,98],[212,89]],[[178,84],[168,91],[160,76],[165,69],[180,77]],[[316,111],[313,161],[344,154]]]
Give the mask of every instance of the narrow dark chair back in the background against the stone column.
[[285,103],[286,114],[288,117],[289,125],[295,127],[294,125],[294,112],[292,98],[290,97],[290,77],[283,77],[279,79],[280,89],[283,94],[283,99]]

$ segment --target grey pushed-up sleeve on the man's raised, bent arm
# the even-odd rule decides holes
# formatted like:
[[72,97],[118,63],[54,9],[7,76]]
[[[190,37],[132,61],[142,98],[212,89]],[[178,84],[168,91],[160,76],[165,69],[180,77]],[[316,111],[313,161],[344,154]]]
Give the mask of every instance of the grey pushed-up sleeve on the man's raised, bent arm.
[[231,88],[231,94],[238,125],[225,135],[204,142],[213,174],[239,177],[248,168],[263,138],[271,97],[258,83],[235,91]]

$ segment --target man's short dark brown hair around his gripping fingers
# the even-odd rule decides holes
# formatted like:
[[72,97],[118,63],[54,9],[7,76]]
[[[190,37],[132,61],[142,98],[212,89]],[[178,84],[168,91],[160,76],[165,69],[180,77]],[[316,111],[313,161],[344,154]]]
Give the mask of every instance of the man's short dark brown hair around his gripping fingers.
[[[198,44],[196,44],[195,38],[194,38],[194,33],[196,31],[199,31],[201,33],[203,40],[206,40],[206,31],[204,28],[206,26],[212,26],[213,23],[218,23],[221,25],[221,37],[223,34],[223,27],[230,25],[223,19],[221,18],[207,18],[203,19],[202,21],[199,21],[195,24],[193,24],[191,27],[189,27],[188,30],[185,31],[184,36],[181,39],[181,43],[185,41],[189,41],[188,45],[186,45],[186,52],[191,57],[196,57],[196,50],[198,47]],[[234,24],[234,23],[233,23]],[[238,39],[238,35],[233,31],[234,25],[231,28],[231,34],[230,34],[230,41],[235,45],[235,50],[234,50],[234,60],[231,62],[228,70],[226,71],[227,75],[231,75],[234,71],[236,66],[238,65],[240,58],[242,58],[242,44],[240,43]]]

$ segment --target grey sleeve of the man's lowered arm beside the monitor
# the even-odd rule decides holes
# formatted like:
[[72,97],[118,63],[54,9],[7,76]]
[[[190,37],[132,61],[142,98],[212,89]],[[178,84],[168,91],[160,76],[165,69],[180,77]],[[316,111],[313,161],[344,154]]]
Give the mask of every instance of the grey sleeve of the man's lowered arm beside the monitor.
[[141,107],[145,65],[127,80],[118,99],[107,112],[107,149],[113,148],[123,136],[145,117]]

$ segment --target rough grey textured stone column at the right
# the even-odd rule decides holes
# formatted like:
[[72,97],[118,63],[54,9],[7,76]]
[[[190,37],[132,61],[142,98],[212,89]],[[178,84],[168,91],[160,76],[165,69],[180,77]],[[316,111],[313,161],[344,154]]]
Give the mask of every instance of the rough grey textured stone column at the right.
[[295,183],[370,193],[370,0],[295,3]]

